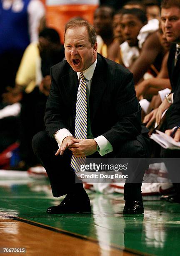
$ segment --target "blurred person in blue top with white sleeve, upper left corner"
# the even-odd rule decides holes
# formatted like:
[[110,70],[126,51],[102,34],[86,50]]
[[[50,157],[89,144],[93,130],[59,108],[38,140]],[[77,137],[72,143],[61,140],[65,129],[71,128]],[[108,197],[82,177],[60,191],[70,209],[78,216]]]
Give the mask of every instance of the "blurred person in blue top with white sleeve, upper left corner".
[[0,95],[15,85],[23,52],[38,38],[40,18],[45,15],[40,0],[0,0]]

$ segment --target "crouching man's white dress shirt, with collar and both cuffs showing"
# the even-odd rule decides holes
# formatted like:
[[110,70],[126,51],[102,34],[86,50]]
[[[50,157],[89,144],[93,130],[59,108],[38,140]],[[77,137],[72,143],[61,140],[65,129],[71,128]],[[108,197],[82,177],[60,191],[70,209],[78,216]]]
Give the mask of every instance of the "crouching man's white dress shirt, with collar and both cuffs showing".
[[[99,154],[101,156],[104,156],[107,153],[110,153],[113,151],[111,143],[102,135],[98,136],[97,138],[93,138],[91,127],[90,127],[90,105],[89,105],[89,99],[90,99],[90,88],[91,88],[91,82],[92,82],[92,76],[95,71],[95,67],[97,64],[97,59],[95,62],[86,70],[84,70],[82,73],[86,79],[86,85],[87,85],[87,139],[94,139],[97,142],[97,145],[100,148]],[[80,72],[77,72],[78,79],[80,77]],[[67,136],[73,136],[69,130],[63,128],[57,131],[55,134],[55,139],[59,146],[62,144],[62,141]]]

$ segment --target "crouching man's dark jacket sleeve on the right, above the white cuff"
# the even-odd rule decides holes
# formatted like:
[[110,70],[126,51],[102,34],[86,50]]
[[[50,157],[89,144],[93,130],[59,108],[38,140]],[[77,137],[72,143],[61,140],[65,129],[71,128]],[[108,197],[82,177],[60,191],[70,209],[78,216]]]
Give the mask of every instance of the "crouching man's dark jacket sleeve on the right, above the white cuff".
[[133,74],[126,72],[121,84],[118,84],[119,75],[117,74],[117,79],[115,79],[117,84],[114,100],[117,122],[112,125],[110,130],[102,134],[113,148],[118,146],[121,141],[135,139],[142,131],[141,107],[135,95]]

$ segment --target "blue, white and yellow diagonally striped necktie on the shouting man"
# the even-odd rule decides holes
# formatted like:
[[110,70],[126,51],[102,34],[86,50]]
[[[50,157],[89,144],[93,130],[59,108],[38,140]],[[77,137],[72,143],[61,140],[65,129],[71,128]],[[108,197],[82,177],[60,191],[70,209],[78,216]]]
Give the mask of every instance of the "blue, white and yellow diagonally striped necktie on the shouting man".
[[[87,138],[87,97],[86,97],[86,80],[80,72],[80,85],[77,91],[76,116],[75,116],[75,138]],[[85,157],[76,157],[72,155],[71,167],[76,173],[80,172],[81,164],[85,164]]]

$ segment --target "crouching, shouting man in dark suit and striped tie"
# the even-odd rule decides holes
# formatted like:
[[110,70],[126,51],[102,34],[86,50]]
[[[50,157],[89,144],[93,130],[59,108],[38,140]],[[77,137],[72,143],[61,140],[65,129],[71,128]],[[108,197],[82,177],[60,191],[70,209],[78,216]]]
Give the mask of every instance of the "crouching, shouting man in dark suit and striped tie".
[[[93,26],[85,20],[67,23],[64,46],[66,60],[51,68],[46,131],[34,136],[32,147],[46,169],[53,196],[67,194],[47,212],[90,212],[82,183],[75,183],[77,166],[97,154],[149,157],[148,130],[141,125],[133,74],[97,54]],[[125,184],[124,199],[124,214],[144,212],[141,183]]]

